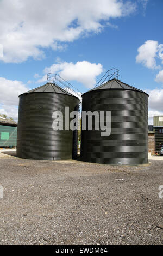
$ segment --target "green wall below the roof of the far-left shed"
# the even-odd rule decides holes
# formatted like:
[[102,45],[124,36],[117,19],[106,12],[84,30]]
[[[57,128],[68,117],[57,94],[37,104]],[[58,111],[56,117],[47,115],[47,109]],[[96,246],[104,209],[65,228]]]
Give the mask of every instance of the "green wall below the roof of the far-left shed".
[[0,147],[16,146],[17,127],[0,125]]

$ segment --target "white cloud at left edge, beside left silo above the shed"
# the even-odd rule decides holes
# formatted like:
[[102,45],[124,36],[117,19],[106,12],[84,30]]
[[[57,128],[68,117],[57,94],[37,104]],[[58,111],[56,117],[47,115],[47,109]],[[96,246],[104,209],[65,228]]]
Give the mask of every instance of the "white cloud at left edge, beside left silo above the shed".
[[27,92],[29,88],[21,81],[7,80],[0,77],[0,114],[17,120],[18,95]]

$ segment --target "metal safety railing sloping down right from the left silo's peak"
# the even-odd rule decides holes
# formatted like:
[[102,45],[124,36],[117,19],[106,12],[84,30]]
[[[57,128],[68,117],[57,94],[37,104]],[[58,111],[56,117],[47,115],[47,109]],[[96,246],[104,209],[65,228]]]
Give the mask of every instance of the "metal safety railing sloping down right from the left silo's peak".
[[48,73],[47,83],[56,84],[58,87],[64,89],[67,93],[71,93],[72,95],[78,97],[81,102],[82,93],[79,92],[77,88],[72,86],[71,83],[68,83],[64,78],[60,77],[58,74]]

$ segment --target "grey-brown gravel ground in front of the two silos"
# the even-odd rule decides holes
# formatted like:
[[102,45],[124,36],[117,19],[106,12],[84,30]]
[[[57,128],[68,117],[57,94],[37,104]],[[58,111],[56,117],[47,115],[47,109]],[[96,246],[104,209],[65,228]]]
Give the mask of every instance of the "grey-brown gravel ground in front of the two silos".
[[0,158],[1,245],[161,245],[163,161]]

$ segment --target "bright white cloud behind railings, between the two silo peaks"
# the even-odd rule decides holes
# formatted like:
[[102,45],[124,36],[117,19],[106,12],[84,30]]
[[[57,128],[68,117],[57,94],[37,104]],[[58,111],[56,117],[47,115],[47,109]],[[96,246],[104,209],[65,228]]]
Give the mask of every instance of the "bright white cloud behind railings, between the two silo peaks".
[[54,63],[52,66],[45,68],[44,75],[38,82],[45,82],[47,73],[57,73],[65,80],[77,81],[83,83],[85,87],[92,88],[96,84],[96,76],[100,75],[103,67],[100,63],[83,62],[61,62]]

